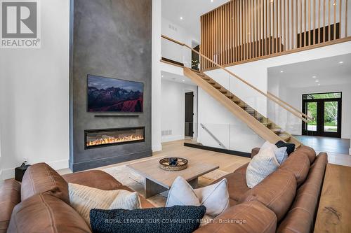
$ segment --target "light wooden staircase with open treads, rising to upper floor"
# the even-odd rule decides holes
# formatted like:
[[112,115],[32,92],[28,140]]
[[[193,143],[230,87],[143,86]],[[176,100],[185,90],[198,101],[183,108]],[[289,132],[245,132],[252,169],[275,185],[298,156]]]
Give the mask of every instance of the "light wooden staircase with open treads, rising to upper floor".
[[281,140],[286,141],[287,143],[295,144],[296,148],[302,146],[302,143],[300,143],[298,139],[291,136],[288,132],[284,132],[284,130],[272,122],[272,120],[265,118],[265,116],[258,113],[258,111],[236,97],[232,92],[225,89],[225,87],[217,83],[205,73],[195,72],[185,67],[184,75],[190,78],[214,99],[219,101],[220,104],[225,106],[225,108],[237,118],[245,122],[248,127],[263,139],[270,141],[271,143],[277,143],[277,141]]

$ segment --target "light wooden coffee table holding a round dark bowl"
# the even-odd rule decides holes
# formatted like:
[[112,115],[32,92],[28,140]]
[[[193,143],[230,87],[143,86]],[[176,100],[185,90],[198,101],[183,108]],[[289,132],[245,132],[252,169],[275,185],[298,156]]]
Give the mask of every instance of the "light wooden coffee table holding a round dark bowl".
[[145,198],[169,190],[173,181],[178,176],[182,176],[193,188],[196,188],[199,176],[203,176],[219,168],[217,165],[206,164],[184,157],[188,160],[187,169],[183,171],[165,171],[159,168],[159,160],[164,157],[157,157],[152,160],[127,165],[127,167],[140,174],[140,176],[145,177]]

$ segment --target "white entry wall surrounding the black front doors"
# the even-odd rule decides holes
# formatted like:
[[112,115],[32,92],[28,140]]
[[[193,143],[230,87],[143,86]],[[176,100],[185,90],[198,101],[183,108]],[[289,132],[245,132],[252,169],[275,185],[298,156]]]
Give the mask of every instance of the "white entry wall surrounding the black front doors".
[[[351,76],[350,76],[351,78]],[[304,88],[289,88],[280,87],[279,97],[287,101],[297,109],[302,109],[302,95],[323,92],[343,92],[343,105],[342,105],[342,125],[341,125],[341,138],[350,139],[351,135],[351,84],[344,85],[328,85],[319,87],[304,87]],[[297,119],[297,118],[296,118]],[[291,120],[296,120],[291,119]],[[291,132],[292,134],[301,135],[301,122],[298,121],[296,128]]]

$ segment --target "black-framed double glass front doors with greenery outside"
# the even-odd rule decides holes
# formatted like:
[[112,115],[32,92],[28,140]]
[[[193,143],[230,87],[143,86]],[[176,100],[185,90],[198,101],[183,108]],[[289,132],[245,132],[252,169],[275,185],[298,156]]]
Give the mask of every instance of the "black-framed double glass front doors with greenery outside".
[[303,135],[341,138],[342,92],[303,94],[303,113],[313,121],[303,122]]

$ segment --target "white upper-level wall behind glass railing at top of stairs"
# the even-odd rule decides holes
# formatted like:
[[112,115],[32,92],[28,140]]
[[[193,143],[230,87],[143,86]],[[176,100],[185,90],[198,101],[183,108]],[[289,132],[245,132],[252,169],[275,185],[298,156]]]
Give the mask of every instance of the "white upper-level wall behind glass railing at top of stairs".
[[[162,34],[171,37],[177,41],[192,46],[192,41],[199,41],[197,36],[193,35],[190,31],[187,31],[178,24],[175,24],[166,18],[162,17]],[[183,46],[162,39],[161,43],[161,54],[162,57],[172,59],[176,62],[181,62],[187,67],[191,67],[192,52],[189,48],[183,48]]]

